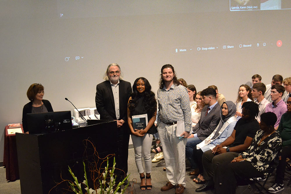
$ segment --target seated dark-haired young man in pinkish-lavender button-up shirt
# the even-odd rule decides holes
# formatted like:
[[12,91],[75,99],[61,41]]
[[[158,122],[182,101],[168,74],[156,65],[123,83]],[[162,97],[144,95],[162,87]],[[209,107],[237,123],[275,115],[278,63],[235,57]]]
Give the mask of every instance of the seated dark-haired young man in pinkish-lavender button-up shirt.
[[272,103],[267,104],[265,112],[273,112],[277,116],[277,122],[275,129],[278,129],[281,116],[287,111],[287,106],[282,100],[282,96],[285,92],[285,88],[280,84],[275,84],[271,88],[271,99]]

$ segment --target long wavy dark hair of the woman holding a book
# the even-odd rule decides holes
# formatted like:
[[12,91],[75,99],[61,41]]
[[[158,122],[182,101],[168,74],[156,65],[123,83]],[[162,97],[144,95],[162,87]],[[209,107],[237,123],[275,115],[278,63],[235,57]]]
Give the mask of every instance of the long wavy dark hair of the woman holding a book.
[[[136,83],[140,79],[145,83],[145,91],[142,93],[136,90]],[[131,95],[131,100],[129,100],[127,105],[131,114],[134,111],[138,100],[143,97],[143,103],[145,105],[146,112],[150,115],[150,117],[154,115],[155,111],[157,111],[157,101],[155,99],[155,93],[152,92],[151,89],[152,86],[150,86],[150,83],[144,77],[139,77],[134,81],[134,84],[132,85],[133,93]]]

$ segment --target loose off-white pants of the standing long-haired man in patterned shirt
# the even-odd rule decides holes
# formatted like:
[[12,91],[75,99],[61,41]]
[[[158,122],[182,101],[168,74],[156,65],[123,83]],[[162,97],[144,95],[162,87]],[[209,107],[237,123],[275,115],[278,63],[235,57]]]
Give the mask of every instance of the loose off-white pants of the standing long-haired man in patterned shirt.
[[176,136],[177,124],[167,125],[161,122],[158,126],[159,137],[162,143],[166,175],[173,185],[185,183],[185,146],[187,138]]

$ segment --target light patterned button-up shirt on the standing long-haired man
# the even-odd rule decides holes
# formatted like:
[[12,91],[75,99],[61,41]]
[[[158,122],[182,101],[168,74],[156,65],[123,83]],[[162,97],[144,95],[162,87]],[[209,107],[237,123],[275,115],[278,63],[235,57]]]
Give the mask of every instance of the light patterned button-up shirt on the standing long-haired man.
[[169,90],[166,87],[157,92],[159,103],[158,123],[184,121],[185,131],[191,131],[191,109],[187,89],[173,84]]

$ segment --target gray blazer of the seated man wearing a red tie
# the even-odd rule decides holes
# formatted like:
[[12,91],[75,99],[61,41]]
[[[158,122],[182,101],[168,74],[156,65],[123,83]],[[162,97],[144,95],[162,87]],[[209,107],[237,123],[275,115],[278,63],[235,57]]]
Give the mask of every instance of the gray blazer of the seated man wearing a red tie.
[[217,103],[205,116],[208,106],[204,106],[198,123],[193,127],[194,133],[200,140],[205,140],[220,122],[220,105]]

